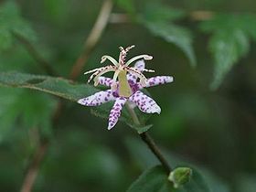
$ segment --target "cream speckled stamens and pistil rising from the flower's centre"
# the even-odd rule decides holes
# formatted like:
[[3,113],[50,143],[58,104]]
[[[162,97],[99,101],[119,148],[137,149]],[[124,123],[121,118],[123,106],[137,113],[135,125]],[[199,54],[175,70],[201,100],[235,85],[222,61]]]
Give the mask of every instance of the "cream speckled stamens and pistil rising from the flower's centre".
[[137,60],[137,59],[145,59],[145,60],[151,60],[153,59],[152,56],[149,55],[139,55],[134,57],[133,59],[129,59],[127,62],[125,62],[126,56],[128,51],[134,48],[134,46],[130,46],[128,48],[123,48],[120,47],[120,55],[119,55],[119,61],[117,62],[115,59],[113,59],[111,56],[107,56],[104,55],[101,57],[101,63],[105,62],[107,59],[109,59],[113,65],[108,65],[102,68],[97,68],[97,69],[92,69],[89,70],[87,72],[85,72],[84,74],[91,74],[91,77],[89,78],[88,82],[90,82],[92,79],[94,80],[94,86],[97,86],[99,84],[99,80],[101,75],[103,75],[104,73],[107,73],[109,71],[114,71],[114,75],[112,78],[112,84],[111,84],[111,88],[112,91],[115,91],[117,89],[117,78],[119,80],[119,84],[121,85],[121,87],[123,89],[121,89],[119,91],[119,95],[123,96],[123,97],[129,97],[132,94],[132,90],[130,89],[128,80],[127,80],[127,72],[133,73],[137,78],[140,79],[140,83],[142,85],[145,85],[146,83],[146,78],[144,77],[143,72],[147,71],[147,72],[155,72],[155,70],[152,69],[137,69],[136,67],[129,67],[129,65],[131,63],[133,63],[133,61]]

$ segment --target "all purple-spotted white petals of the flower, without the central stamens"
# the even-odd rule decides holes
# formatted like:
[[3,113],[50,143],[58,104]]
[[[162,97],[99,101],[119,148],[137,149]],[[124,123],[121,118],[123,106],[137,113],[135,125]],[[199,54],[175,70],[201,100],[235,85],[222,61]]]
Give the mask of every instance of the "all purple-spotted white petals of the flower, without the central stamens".
[[[140,72],[144,71],[144,60],[137,61],[134,68],[136,68]],[[137,76],[134,75],[133,73],[127,74],[127,80],[129,83],[128,85],[132,91],[132,94],[129,95],[128,97],[123,97],[122,95],[120,95],[120,90],[123,88],[121,87],[120,82],[116,82],[117,83],[116,90],[113,91],[112,89],[110,89],[106,91],[99,91],[89,97],[80,99],[78,102],[81,105],[85,105],[85,106],[98,106],[108,101],[114,101],[114,104],[109,116],[109,125],[108,125],[109,130],[112,129],[112,127],[118,122],[118,118],[121,115],[123,105],[125,104],[126,101],[130,101],[136,106],[138,106],[138,108],[142,112],[147,112],[147,113],[161,112],[161,108],[157,105],[157,103],[140,90],[142,90],[144,87],[152,87],[155,85],[172,82],[173,77],[156,76],[153,78],[149,78],[148,80],[146,80],[144,86],[141,83],[137,82]],[[107,87],[112,87],[113,80],[111,78],[99,77],[99,83]]]

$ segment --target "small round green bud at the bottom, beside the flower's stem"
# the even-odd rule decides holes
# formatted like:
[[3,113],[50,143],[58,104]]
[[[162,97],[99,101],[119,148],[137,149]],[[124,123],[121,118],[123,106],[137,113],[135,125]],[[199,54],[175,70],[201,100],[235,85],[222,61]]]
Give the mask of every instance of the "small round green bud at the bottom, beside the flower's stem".
[[189,167],[177,167],[168,176],[168,180],[174,183],[174,187],[186,184],[192,176],[192,169]]

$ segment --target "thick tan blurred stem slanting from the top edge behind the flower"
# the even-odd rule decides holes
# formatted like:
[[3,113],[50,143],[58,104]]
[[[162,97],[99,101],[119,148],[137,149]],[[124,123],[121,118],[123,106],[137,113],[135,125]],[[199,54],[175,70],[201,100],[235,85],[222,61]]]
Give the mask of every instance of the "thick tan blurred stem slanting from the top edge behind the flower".
[[92,49],[99,42],[102,32],[108,24],[109,17],[112,13],[112,0],[105,0],[101,6],[100,14],[91,29],[91,33],[87,40],[84,42],[83,51],[80,53],[80,57],[76,60],[69,78],[75,80],[79,75],[80,71],[83,68],[86,60],[89,58]]

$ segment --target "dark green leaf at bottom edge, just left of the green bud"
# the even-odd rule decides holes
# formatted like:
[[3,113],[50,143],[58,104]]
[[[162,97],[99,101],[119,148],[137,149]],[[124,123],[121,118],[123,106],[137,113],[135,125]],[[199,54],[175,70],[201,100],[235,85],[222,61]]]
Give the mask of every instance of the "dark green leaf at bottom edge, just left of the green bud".
[[162,166],[157,165],[146,170],[133,182],[127,192],[170,192],[173,187]]

